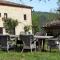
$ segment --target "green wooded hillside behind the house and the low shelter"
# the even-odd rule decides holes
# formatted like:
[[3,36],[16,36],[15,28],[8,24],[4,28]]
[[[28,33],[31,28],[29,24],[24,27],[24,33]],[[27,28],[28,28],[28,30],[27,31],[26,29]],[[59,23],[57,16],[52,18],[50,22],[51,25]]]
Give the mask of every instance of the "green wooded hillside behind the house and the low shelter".
[[58,14],[56,13],[48,13],[48,12],[32,12],[32,23],[33,23],[33,30],[34,33],[41,31],[41,27],[46,23],[57,20]]

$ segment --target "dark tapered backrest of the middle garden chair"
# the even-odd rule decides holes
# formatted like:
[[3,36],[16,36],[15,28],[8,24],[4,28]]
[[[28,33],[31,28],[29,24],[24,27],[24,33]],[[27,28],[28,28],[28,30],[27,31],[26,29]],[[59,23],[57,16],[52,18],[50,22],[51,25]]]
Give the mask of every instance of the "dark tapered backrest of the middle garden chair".
[[20,39],[23,41],[25,46],[30,46],[33,41],[33,35],[20,35]]

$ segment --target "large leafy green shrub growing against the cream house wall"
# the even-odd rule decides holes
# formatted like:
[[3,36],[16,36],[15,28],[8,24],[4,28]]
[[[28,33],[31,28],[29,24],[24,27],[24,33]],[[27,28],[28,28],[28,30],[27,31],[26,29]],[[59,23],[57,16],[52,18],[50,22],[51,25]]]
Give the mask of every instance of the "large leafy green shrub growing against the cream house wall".
[[7,33],[15,34],[15,27],[18,25],[18,21],[12,18],[3,18],[4,28]]

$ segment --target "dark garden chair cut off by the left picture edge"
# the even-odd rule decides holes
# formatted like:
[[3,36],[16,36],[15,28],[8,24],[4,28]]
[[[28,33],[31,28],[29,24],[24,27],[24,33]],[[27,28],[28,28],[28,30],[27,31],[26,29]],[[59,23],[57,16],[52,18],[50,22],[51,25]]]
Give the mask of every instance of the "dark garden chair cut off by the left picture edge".
[[9,50],[9,40],[10,40],[10,38],[9,38],[9,35],[0,35],[0,47],[1,47],[1,49],[3,49],[3,50]]

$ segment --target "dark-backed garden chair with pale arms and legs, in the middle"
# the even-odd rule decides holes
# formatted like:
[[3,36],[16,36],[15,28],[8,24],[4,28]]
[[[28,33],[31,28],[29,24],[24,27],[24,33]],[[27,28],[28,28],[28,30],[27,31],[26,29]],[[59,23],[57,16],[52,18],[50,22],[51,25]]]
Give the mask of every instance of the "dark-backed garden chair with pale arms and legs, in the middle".
[[32,49],[35,49],[36,51],[36,40],[34,40],[33,35],[20,35],[20,40],[23,41],[23,49],[30,49],[32,52]]

